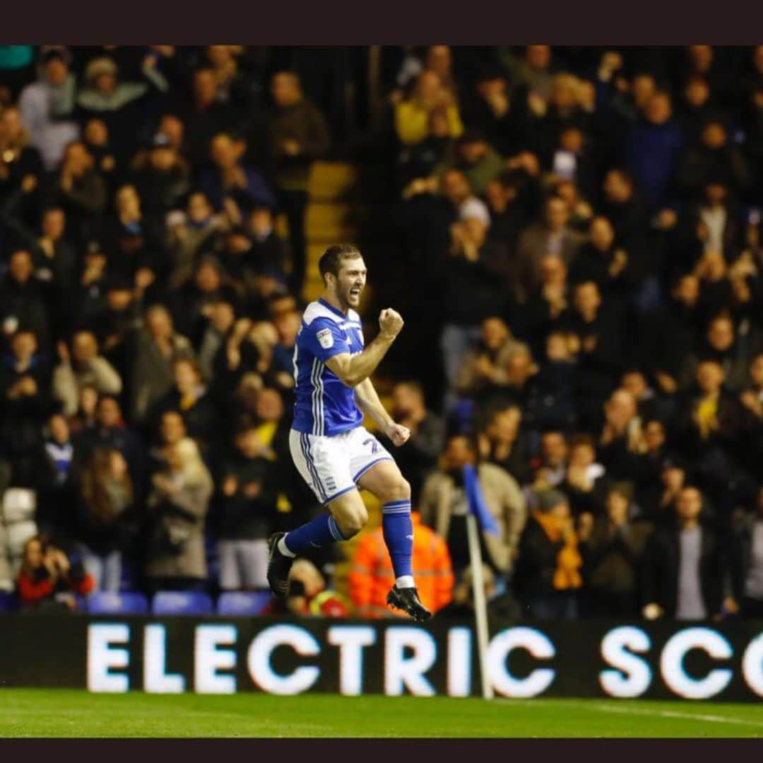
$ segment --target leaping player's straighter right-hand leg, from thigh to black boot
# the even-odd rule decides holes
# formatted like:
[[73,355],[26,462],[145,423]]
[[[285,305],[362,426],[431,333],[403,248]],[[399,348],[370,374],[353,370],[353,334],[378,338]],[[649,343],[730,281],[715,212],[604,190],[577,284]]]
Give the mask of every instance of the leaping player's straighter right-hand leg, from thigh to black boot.
[[419,599],[411,568],[414,526],[410,521],[410,484],[398,464],[380,461],[362,475],[359,486],[381,501],[381,529],[395,575],[387,603],[419,622],[429,619],[432,613]]

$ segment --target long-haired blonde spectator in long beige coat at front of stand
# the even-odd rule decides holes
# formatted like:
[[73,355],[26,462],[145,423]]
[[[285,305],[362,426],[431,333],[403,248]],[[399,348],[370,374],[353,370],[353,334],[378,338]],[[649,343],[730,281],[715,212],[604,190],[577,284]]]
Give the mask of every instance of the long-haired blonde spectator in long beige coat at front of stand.
[[204,523],[213,483],[198,448],[185,438],[165,450],[151,478],[145,574],[152,590],[200,590],[207,578]]

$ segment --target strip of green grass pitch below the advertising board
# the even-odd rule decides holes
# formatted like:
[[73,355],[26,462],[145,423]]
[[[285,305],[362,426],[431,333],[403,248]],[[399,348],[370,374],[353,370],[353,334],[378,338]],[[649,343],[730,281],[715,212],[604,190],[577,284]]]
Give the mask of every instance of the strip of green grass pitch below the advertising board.
[[763,705],[0,689],[0,737],[763,736]]

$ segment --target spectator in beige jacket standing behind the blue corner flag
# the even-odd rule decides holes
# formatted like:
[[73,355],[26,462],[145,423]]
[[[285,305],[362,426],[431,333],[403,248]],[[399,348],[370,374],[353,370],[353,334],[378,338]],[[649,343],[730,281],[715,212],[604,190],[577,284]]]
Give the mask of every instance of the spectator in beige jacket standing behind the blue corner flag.
[[472,442],[463,435],[449,438],[441,466],[424,483],[420,500],[422,522],[445,538],[453,571],[462,573],[469,563],[466,538],[468,498],[464,467],[475,466],[485,504],[494,516],[499,535],[483,532],[485,561],[507,574],[517,560],[517,545],[526,519],[525,500],[510,474],[494,464],[477,463]]

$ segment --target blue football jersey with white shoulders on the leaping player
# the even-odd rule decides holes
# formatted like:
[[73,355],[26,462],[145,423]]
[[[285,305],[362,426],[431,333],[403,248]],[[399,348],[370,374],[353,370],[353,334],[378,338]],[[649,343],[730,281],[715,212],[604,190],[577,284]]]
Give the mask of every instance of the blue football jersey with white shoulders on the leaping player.
[[324,299],[307,306],[294,348],[293,429],[331,436],[361,424],[363,415],[355,402],[355,390],[343,384],[326,361],[343,352],[355,355],[362,349],[362,325],[354,310],[345,315]]

